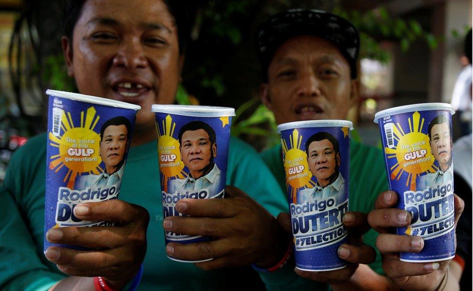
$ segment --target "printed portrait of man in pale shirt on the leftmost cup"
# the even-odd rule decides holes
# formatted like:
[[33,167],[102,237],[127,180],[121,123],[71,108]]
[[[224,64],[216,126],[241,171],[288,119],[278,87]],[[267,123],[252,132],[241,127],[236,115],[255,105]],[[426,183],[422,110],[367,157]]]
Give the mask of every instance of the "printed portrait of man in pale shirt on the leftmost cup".
[[78,176],[74,183],[75,189],[87,187],[98,189],[117,185],[120,189],[125,155],[130,144],[131,123],[124,116],[107,120],[100,129],[100,158],[105,169],[100,175]]

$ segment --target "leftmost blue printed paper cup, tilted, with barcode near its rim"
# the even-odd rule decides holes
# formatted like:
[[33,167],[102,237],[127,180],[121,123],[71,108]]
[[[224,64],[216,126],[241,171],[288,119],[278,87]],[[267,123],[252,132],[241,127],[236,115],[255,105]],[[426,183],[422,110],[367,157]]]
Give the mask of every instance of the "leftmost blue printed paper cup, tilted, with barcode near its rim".
[[[80,220],[73,210],[79,203],[118,199],[141,107],[63,91],[46,94],[45,234],[53,227],[113,225]],[[58,244],[45,237],[44,251],[51,245]]]

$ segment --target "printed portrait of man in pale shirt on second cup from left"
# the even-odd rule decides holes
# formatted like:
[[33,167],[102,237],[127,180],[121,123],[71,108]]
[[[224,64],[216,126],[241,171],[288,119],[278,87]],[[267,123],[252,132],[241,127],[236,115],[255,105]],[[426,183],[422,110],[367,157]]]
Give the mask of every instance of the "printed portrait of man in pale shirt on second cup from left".
[[217,157],[215,130],[202,121],[192,121],[179,130],[181,159],[189,169],[185,179],[174,179],[168,183],[170,193],[207,189],[216,195],[221,190],[220,169],[214,162]]

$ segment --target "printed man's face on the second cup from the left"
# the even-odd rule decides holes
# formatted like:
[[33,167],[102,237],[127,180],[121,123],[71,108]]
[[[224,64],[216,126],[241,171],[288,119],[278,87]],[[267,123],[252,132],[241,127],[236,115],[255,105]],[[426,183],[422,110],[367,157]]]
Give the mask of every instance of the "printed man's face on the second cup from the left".
[[185,131],[181,143],[182,161],[189,168],[192,178],[200,178],[210,160],[217,156],[217,146],[210,144],[204,129]]

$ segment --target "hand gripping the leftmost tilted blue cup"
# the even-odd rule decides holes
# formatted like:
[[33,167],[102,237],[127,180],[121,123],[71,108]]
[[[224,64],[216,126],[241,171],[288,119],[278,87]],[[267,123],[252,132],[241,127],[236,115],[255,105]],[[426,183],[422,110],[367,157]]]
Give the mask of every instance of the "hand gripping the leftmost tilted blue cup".
[[49,242],[79,245],[90,250],[51,246],[45,256],[63,273],[81,277],[101,276],[114,287],[123,287],[136,273],[146,254],[148,211],[120,200],[88,202],[74,208],[74,215],[88,221],[111,221],[115,226],[51,228]]

